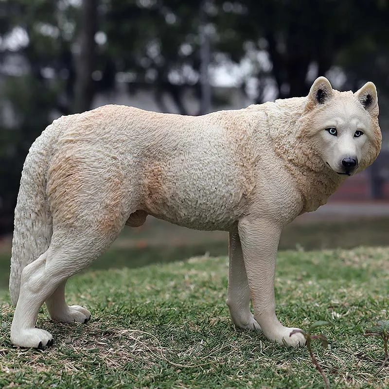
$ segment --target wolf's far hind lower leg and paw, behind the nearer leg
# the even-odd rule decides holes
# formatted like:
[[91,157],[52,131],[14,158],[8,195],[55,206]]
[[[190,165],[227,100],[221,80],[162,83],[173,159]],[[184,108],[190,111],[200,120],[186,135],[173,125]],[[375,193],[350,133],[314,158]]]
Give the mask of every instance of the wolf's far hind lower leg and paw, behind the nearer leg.
[[80,305],[67,305],[65,301],[65,285],[63,281],[55,289],[55,292],[46,300],[46,306],[49,310],[50,316],[55,321],[63,321],[65,323],[84,323],[86,324],[90,319],[90,312],[88,309]]

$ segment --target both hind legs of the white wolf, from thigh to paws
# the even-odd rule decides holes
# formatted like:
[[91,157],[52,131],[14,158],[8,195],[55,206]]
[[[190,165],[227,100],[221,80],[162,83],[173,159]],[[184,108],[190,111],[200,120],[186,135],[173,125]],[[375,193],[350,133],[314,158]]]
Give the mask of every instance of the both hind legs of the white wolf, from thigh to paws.
[[[64,146],[47,172],[53,235],[48,250],[22,271],[11,326],[11,340],[19,346],[52,343],[48,332],[35,328],[44,301],[48,302],[53,318],[65,321],[89,318],[88,311],[66,305],[66,280],[104,252],[131,212],[137,210],[136,166],[129,167],[120,158],[110,157],[109,148],[107,153],[101,153],[101,158],[96,158],[74,147]],[[130,185],[131,182],[134,184]]]

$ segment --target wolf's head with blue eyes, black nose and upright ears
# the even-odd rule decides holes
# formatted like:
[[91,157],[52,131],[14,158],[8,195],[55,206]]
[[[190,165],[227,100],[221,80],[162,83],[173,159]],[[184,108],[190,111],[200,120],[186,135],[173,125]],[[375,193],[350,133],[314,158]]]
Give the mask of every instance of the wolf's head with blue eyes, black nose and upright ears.
[[338,175],[367,168],[381,149],[378,98],[373,83],[355,93],[334,90],[325,77],[313,83],[302,114],[303,138],[322,163]]

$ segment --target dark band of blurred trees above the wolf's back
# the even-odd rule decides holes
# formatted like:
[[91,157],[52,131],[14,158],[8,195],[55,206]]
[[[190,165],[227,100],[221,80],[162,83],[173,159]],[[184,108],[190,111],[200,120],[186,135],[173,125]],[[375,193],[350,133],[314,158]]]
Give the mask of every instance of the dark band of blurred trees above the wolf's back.
[[369,79],[389,93],[388,17],[388,0],[0,1],[0,233],[12,229],[32,141],[118,79],[147,88],[162,111],[169,96],[182,114],[216,106],[220,65],[245,69],[235,85],[258,103],[305,95],[323,74],[337,88]]

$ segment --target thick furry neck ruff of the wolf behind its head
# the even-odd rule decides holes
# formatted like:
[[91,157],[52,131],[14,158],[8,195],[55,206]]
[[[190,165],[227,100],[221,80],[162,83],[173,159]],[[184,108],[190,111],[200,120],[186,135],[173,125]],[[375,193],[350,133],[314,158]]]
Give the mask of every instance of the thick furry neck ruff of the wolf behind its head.
[[301,213],[315,211],[325,204],[344,181],[343,176],[337,176],[324,165],[309,139],[299,137],[304,105],[305,98],[299,97],[276,100],[266,109],[274,150],[295,178],[301,194]]

